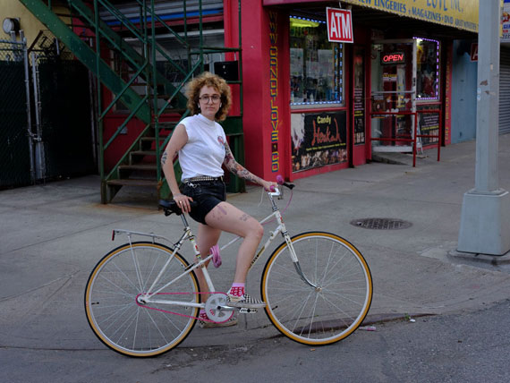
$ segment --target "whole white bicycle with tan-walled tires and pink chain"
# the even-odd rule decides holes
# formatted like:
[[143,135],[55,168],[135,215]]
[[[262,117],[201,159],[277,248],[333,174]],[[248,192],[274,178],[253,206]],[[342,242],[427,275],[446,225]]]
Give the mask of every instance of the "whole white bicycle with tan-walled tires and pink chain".
[[[292,189],[293,185],[281,182]],[[344,238],[325,232],[306,232],[291,237],[276,205],[282,192],[268,191],[272,213],[260,223],[276,220],[276,228],[257,251],[251,267],[278,234],[284,242],[269,256],[262,272],[260,292],[272,324],[285,336],[304,345],[335,343],[361,325],[372,299],[370,268],[361,252]],[[291,196],[292,197],[292,196]],[[233,308],[226,294],[216,292],[208,269],[212,260],[221,263],[217,249],[200,258],[195,237],[185,215],[172,201],[160,201],[165,215],[183,221],[183,235],[174,245],[157,243],[164,236],[115,229],[126,234],[128,243],[110,251],[90,273],[85,290],[85,311],[98,338],[115,352],[148,357],[166,353],[191,333],[200,309],[208,320],[223,322],[256,309]],[[132,242],[132,236],[152,240]],[[238,238],[227,243],[224,248]],[[195,263],[178,252],[190,241]],[[193,270],[202,268],[209,292],[206,302]]]

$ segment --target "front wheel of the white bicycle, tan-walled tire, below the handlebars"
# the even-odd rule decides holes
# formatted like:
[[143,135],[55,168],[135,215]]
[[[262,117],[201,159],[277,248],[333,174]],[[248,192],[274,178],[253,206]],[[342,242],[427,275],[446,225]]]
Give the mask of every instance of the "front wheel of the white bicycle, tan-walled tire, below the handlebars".
[[269,319],[305,345],[329,345],[351,335],[372,300],[370,268],[361,252],[323,232],[298,234],[291,242],[298,263],[282,243],[264,268],[260,288]]

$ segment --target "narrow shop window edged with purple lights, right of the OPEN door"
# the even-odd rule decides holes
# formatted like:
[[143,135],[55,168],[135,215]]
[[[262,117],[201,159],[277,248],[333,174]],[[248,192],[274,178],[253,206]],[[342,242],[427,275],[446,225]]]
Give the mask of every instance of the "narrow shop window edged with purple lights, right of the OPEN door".
[[439,41],[416,38],[416,99],[439,99]]

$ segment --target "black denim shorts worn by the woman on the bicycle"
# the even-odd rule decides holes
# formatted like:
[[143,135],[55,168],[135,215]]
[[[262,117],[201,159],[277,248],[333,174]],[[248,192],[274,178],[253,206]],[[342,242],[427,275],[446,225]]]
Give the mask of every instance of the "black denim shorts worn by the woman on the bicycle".
[[191,209],[190,217],[204,225],[208,212],[226,199],[225,183],[220,180],[184,183],[182,192],[199,203]]

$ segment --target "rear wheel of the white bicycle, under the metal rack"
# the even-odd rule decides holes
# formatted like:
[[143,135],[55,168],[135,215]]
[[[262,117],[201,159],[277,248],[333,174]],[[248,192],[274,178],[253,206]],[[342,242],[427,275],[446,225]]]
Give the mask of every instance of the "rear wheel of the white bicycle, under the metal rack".
[[[190,334],[198,308],[137,302],[140,294],[150,293],[147,289],[171,255],[172,250],[159,243],[126,243],[106,254],[92,270],[85,290],[87,319],[101,342],[117,353],[155,356],[179,345]],[[188,266],[175,253],[154,291]],[[191,272],[157,298],[199,302],[198,293],[199,284]]]

